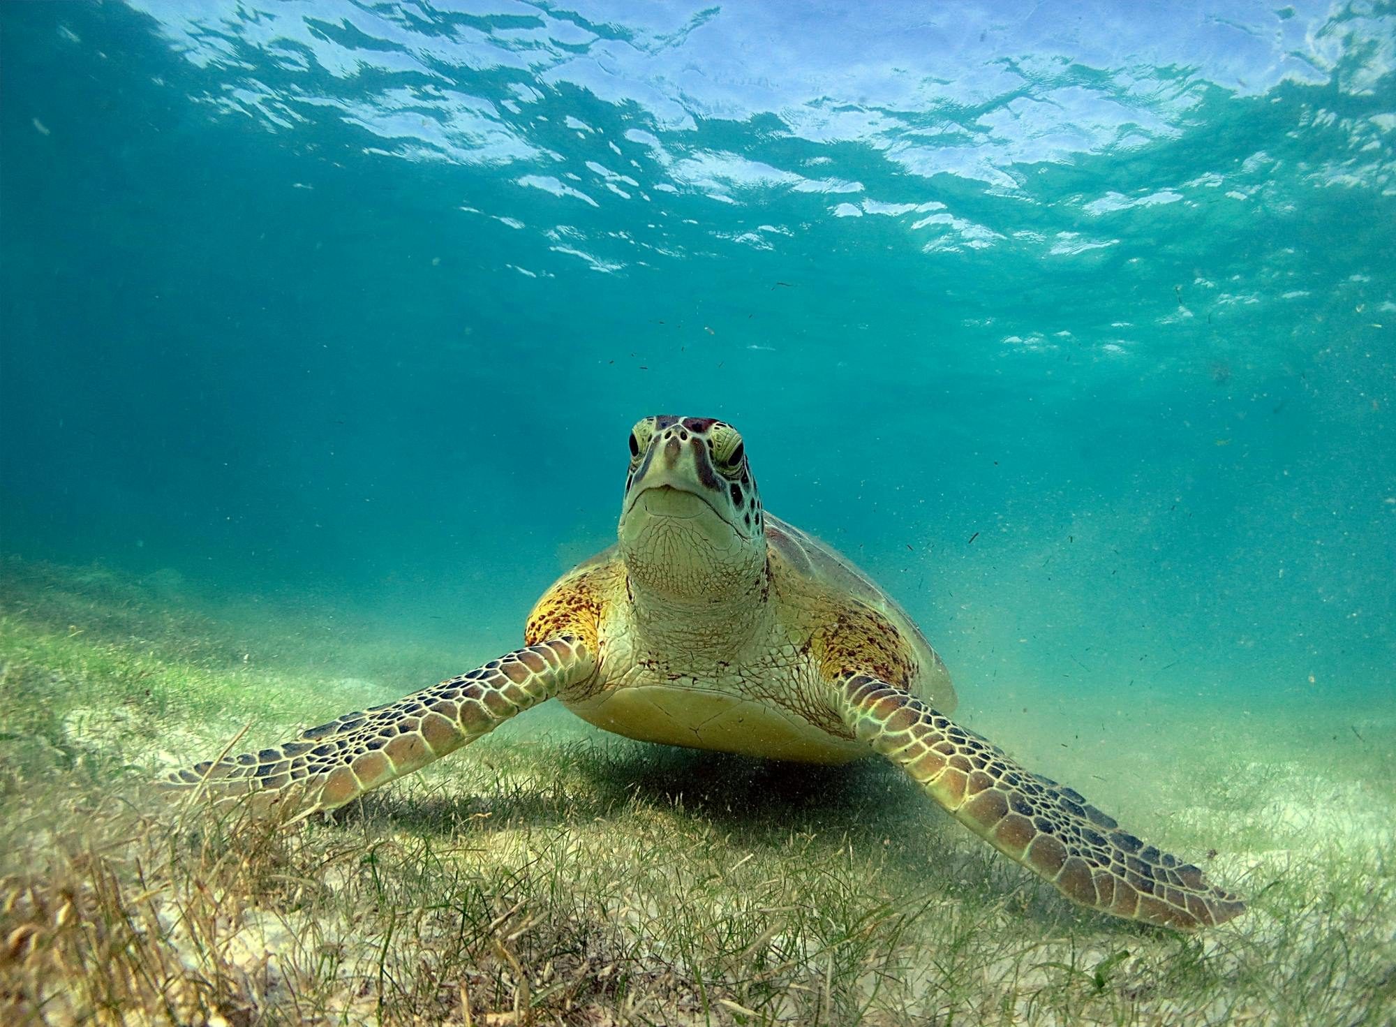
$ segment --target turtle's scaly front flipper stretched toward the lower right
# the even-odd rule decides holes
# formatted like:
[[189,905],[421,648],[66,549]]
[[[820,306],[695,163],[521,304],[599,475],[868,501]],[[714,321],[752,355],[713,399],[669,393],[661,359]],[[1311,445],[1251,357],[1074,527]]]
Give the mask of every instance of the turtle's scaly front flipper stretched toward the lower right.
[[1029,773],[909,692],[867,674],[833,681],[843,721],[994,848],[1074,901],[1191,931],[1245,911],[1203,872],[1146,846],[1076,791]]

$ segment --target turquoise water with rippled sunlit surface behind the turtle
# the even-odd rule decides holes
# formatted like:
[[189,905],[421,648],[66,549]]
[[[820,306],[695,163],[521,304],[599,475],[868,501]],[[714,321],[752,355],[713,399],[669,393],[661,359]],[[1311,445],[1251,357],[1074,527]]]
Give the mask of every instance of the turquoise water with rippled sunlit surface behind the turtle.
[[1392,8],[919,7],[4,4],[4,550],[504,652],[713,416],[966,696],[1389,705]]

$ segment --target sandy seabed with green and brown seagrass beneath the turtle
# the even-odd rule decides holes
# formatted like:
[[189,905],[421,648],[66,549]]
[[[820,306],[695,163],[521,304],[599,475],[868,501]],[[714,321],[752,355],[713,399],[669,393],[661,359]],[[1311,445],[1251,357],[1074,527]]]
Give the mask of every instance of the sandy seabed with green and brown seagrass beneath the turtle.
[[1389,707],[1015,720],[962,687],[969,726],[1251,906],[1178,935],[1071,906],[879,760],[648,747],[561,709],[328,819],[170,801],[158,773],[244,727],[257,748],[498,653],[366,645],[311,606],[193,614],[179,582],[101,568],[4,575],[7,1023],[1396,1017]]

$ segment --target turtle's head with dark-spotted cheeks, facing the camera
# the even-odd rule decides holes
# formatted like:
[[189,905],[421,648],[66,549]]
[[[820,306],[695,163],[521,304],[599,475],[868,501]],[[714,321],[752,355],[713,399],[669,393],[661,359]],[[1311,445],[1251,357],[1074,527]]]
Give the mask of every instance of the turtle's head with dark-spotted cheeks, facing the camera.
[[745,594],[765,572],[765,518],[741,434],[711,417],[630,433],[620,554],[631,580],[678,601]]

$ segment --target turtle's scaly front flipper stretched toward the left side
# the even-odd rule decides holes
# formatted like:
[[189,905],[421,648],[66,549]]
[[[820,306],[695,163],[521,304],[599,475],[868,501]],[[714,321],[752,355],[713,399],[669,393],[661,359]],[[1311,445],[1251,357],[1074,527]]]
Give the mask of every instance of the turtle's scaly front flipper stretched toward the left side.
[[334,809],[473,742],[595,670],[593,649],[560,635],[396,702],[346,713],[282,745],[198,763],[166,781],[215,795],[257,793],[258,805],[289,802],[302,816]]

